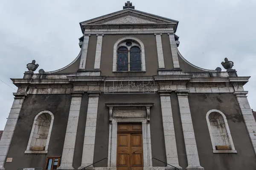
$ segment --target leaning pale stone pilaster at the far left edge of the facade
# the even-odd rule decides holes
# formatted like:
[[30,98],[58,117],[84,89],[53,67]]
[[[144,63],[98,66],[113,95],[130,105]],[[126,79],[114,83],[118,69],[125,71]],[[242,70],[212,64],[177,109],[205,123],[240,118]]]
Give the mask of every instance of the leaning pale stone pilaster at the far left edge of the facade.
[[4,163],[12,141],[12,136],[17,125],[23,101],[27,94],[13,93],[13,95],[15,98],[0,140],[0,170],[4,170]]

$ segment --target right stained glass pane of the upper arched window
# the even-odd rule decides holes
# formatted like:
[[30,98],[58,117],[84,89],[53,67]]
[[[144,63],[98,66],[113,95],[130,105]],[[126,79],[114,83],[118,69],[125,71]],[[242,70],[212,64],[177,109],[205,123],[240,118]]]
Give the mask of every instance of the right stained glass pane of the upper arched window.
[[130,71],[141,71],[140,48],[137,46],[130,50]]

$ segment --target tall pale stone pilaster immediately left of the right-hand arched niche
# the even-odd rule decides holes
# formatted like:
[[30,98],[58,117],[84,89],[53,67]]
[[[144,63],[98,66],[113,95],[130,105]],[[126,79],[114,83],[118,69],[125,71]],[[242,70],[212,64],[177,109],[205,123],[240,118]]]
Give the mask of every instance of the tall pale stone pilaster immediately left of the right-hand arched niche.
[[180,118],[188,162],[186,170],[203,170],[204,168],[200,166],[199,162],[195,133],[189,108],[189,90],[175,90],[175,92],[177,93],[179,101]]

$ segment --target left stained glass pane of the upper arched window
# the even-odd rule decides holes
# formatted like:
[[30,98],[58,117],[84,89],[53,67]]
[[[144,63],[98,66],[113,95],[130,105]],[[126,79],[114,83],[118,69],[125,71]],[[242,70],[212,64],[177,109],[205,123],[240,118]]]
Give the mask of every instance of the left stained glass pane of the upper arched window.
[[128,49],[124,46],[117,52],[117,71],[128,71]]

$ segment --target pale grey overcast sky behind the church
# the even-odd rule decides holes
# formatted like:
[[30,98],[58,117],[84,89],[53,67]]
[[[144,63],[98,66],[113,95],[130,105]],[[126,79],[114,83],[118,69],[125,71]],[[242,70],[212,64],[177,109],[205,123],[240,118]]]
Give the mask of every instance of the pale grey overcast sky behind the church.
[[[180,21],[180,53],[192,64],[221,67],[227,57],[256,110],[256,0],[131,0],[135,9]],[[79,54],[79,22],[122,10],[125,0],[1,0],[0,80],[22,78],[26,64],[52,71]],[[38,72],[38,70],[36,72]],[[0,130],[12,107],[12,88],[0,81]]]

